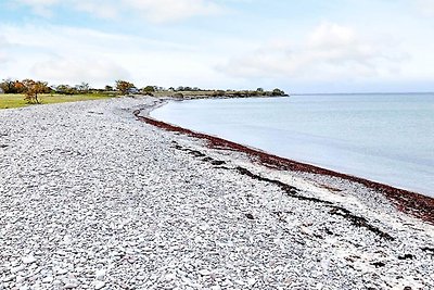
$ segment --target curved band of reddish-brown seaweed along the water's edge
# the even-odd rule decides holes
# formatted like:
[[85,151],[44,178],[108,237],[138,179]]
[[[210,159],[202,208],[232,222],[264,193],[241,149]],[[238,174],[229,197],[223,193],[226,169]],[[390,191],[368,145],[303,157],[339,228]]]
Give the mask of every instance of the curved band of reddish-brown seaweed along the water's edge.
[[372,181],[366,178],[339,173],[335,171],[322,168],[316,165],[297,162],[291,159],[281,157],[270,154],[254,148],[250,148],[237,142],[232,142],[219,137],[210,136],[203,133],[196,133],[180,126],[171,125],[162,121],[150,117],[150,111],[163,105],[162,102],[155,102],[154,105],[146,108],[144,115],[142,110],[137,110],[133,115],[141,122],[156,126],[158,128],[186,134],[188,136],[204,139],[208,141],[208,147],[221,150],[233,150],[243,152],[250,156],[253,162],[258,162],[264,166],[279,169],[279,171],[293,171],[310,174],[319,174],[323,176],[337,177],[341,179],[349,180],[353,182],[361,184],[367,188],[374,189],[390,200],[397,210],[406,214],[418,217],[426,223],[434,225],[434,199],[420,194],[418,192],[395,188],[390,185]]

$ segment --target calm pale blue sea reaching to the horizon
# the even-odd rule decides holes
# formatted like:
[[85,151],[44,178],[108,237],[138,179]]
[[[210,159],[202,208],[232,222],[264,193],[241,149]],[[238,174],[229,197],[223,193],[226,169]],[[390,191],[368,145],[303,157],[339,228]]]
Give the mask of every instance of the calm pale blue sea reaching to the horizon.
[[434,197],[434,93],[193,100],[151,115]]

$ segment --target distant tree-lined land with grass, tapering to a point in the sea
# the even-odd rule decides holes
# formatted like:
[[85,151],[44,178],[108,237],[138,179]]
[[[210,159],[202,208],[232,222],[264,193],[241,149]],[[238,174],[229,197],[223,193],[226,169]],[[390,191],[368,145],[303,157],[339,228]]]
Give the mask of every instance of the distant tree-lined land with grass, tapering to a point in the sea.
[[113,98],[125,94],[144,94],[151,97],[168,97],[176,99],[202,98],[254,98],[254,97],[284,97],[283,90],[263,88],[232,90],[232,89],[201,89],[199,87],[179,86],[164,88],[159,86],[139,87],[127,80],[116,80],[113,86],[92,88],[88,83],[79,85],[50,86],[48,81],[34,79],[3,79],[0,83],[0,109],[21,108],[29,104],[61,103],[71,101],[94,100]]

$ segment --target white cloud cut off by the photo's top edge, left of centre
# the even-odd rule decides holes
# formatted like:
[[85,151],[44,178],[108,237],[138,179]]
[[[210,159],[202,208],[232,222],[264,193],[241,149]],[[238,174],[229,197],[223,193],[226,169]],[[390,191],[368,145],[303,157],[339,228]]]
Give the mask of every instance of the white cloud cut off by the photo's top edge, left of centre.
[[27,5],[36,14],[51,16],[56,5],[103,18],[142,16],[153,23],[170,23],[194,16],[219,14],[224,8],[213,0],[10,0]]

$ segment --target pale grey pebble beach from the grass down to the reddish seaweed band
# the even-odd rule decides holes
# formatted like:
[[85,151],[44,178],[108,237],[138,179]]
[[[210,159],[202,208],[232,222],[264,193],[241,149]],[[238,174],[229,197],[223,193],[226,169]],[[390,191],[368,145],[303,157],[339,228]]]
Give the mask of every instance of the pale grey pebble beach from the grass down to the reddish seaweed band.
[[139,122],[0,111],[0,289],[434,289],[434,226],[339,177]]

